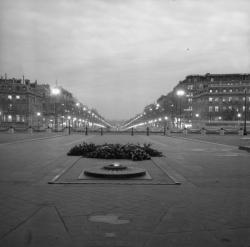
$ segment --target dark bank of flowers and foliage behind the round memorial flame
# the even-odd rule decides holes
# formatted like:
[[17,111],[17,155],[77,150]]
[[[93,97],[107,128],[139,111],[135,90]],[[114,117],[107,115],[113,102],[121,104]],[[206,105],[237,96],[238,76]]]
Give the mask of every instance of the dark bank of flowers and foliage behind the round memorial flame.
[[148,160],[151,157],[161,157],[162,153],[151,148],[151,144],[103,144],[83,142],[70,149],[68,155],[83,156],[97,159],[131,159]]

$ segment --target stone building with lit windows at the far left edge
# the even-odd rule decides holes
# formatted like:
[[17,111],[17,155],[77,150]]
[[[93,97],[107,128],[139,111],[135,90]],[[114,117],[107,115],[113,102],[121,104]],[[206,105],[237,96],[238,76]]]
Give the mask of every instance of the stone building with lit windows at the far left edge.
[[38,125],[43,109],[43,94],[37,82],[29,80],[0,79],[1,126],[27,127]]

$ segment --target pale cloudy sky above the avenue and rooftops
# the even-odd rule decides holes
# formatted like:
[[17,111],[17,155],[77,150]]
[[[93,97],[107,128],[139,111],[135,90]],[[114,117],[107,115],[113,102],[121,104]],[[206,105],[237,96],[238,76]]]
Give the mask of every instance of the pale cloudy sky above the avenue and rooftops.
[[248,0],[2,0],[0,73],[130,119],[188,75],[250,68]]

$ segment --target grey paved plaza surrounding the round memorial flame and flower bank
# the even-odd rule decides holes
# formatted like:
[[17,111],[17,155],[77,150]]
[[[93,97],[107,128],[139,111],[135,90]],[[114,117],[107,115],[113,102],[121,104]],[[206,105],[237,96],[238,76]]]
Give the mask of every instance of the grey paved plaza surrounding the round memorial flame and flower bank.
[[[249,153],[238,149],[247,139],[0,138],[0,246],[250,246]],[[82,141],[152,143],[165,157],[134,163],[149,171],[144,182],[67,183],[94,162],[66,155]]]

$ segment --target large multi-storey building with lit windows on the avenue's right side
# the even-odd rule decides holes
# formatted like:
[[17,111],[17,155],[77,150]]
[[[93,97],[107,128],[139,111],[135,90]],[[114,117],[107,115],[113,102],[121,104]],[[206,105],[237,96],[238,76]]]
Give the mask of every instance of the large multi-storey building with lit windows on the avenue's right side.
[[[183,116],[188,120],[236,121],[245,111],[250,119],[250,74],[190,75],[174,89],[185,91]],[[246,92],[245,92],[246,90]]]

